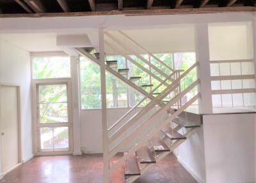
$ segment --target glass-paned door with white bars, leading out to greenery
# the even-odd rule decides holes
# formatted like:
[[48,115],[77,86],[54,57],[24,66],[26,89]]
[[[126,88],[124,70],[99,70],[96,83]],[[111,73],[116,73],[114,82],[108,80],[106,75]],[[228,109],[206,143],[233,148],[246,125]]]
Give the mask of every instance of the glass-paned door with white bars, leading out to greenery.
[[70,151],[67,83],[37,84],[38,152]]

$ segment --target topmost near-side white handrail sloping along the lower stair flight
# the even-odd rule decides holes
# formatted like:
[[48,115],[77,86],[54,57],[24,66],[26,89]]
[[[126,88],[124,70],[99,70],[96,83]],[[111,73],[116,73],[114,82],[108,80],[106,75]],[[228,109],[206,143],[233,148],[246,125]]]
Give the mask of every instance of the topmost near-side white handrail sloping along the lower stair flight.
[[109,143],[111,143],[112,141],[114,141],[116,138],[118,138],[118,136],[120,134],[122,134],[125,129],[127,129],[128,127],[130,127],[134,122],[136,122],[137,120],[139,120],[141,118],[141,116],[143,116],[145,113],[147,113],[147,111],[149,111],[150,109],[152,109],[152,107],[154,107],[157,102],[159,102],[159,100],[164,99],[164,97],[166,97],[166,95],[168,95],[168,93],[172,92],[175,88],[177,88],[177,84],[179,84],[179,81],[185,77],[191,70],[193,70],[193,68],[195,68],[198,65],[198,62],[194,63],[191,67],[189,67],[183,74],[181,74],[176,80],[175,82],[173,82],[172,84],[170,84],[170,86],[166,87],[162,93],[160,93],[159,95],[157,95],[157,97],[155,97],[154,100],[151,100],[145,107],[143,107],[143,109],[141,109],[141,111],[139,111],[136,115],[132,116],[132,118],[130,118],[126,123],[124,123],[114,134],[112,134],[108,141]]

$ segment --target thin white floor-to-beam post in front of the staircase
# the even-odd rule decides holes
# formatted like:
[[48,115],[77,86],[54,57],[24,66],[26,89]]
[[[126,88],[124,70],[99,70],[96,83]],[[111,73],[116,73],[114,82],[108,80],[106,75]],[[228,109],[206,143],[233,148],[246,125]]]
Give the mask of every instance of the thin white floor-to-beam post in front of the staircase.
[[109,183],[106,65],[105,65],[105,58],[104,58],[105,49],[104,49],[104,30],[103,29],[99,29],[99,52],[100,52],[100,81],[101,81],[103,175],[104,175],[104,183]]

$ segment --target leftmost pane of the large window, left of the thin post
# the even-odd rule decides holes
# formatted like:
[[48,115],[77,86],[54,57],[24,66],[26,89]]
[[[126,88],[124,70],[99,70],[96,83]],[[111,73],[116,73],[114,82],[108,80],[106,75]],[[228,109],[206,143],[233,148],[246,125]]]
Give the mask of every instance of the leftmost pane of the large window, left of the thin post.
[[100,67],[87,58],[80,58],[82,109],[101,107]]

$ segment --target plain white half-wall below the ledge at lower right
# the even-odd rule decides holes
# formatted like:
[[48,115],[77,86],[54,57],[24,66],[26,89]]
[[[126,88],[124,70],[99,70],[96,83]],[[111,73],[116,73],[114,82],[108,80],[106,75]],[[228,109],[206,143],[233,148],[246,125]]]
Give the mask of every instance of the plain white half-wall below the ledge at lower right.
[[256,182],[256,114],[204,116],[207,183]]

